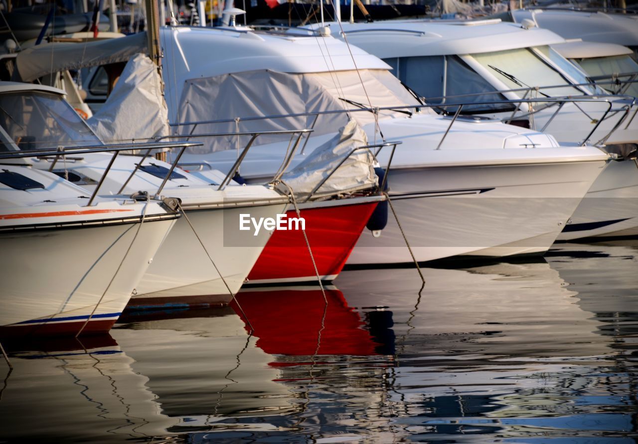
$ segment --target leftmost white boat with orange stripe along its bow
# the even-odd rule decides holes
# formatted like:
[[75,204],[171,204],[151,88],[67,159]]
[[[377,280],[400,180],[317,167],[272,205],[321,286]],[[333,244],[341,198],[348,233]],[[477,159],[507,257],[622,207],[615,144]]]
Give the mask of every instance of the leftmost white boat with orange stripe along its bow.
[[92,199],[51,172],[3,164],[1,334],[107,332],[177,217],[161,201]]

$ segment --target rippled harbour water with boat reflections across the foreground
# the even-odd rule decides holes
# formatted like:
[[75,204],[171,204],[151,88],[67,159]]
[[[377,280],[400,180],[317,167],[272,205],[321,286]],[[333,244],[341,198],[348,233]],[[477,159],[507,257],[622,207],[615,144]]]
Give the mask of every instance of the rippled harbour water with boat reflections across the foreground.
[[14,346],[0,441],[638,441],[638,241],[423,272]]

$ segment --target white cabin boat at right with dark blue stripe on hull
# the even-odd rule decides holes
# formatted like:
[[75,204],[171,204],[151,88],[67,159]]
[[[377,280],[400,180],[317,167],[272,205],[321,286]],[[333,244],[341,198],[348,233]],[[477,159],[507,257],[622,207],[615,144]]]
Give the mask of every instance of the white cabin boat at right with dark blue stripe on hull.
[[[331,28],[334,30],[335,26],[333,24]],[[579,95],[584,100],[604,93],[598,97],[616,100],[616,96],[608,95],[598,87],[577,86],[590,80],[553,49],[553,45],[565,43],[565,40],[547,29],[527,29],[499,20],[452,23],[392,21],[342,26],[348,42],[382,57],[410,88],[426,98],[433,97],[428,103],[517,100],[530,98],[530,91],[531,94],[547,96]],[[339,33],[335,31],[335,34]],[[339,36],[343,38],[343,35]],[[525,90],[527,86],[554,84],[562,86],[540,88],[537,93]],[[524,88],[510,90],[519,87]],[[440,97],[450,95],[465,96]],[[470,103],[463,109],[482,116],[518,119],[523,125],[535,123],[538,128],[546,127],[547,132],[556,136],[558,141],[574,144],[586,139],[586,134],[598,125],[596,116],[600,118],[602,114],[591,111],[603,105],[606,107],[607,103],[554,103],[531,116],[528,116],[528,111],[521,111],[519,116],[515,116],[516,110],[510,102]],[[613,103],[612,106],[616,107]],[[638,142],[637,112],[638,107],[632,105],[625,119],[607,139],[608,145],[623,151],[623,144]],[[621,114],[609,114],[590,141],[604,139],[604,133],[618,124]],[[593,183],[586,199],[569,218],[558,239],[635,233],[638,227],[637,192],[638,171],[633,162],[612,162]]]

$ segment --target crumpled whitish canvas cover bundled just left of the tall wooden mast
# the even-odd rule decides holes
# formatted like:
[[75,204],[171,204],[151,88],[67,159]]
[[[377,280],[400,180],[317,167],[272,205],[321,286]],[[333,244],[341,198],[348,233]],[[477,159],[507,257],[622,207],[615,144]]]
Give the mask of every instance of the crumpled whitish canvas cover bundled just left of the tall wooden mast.
[[150,142],[168,135],[168,109],[157,66],[144,54],[126,63],[103,107],[87,124],[104,142]]

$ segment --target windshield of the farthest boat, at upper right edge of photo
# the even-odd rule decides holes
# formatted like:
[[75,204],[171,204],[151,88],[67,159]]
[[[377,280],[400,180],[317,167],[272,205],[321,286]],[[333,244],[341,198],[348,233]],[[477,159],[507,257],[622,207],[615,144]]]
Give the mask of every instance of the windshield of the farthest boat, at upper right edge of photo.
[[605,84],[605,88],[612,89],[616,94],[627,94],[638,97],[638,83],[622,83],[623,80],[638,80],[638,75],[635,75],[638,73],[638,63],[636,63],[632,57],[628,55],[594,57],[591,59],[581,59],[578,63],[591,77],[597,77],[599,75],[607,75],[610,77],[609,79],[600,80],[602,82],[611,80],[612,75],[618,75],[618,80],[620,80],[621,84]]

